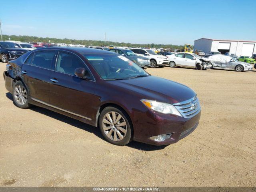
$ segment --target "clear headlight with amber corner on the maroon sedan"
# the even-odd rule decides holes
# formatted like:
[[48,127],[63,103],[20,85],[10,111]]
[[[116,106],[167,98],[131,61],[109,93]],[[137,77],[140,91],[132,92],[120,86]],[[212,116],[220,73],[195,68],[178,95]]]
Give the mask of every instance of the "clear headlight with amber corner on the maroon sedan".
[[181,116],[180,112],[172,105],[168,103],[157,102],[153,100],[142,99],[141,102],[148,108],[164,114],[174,114]]

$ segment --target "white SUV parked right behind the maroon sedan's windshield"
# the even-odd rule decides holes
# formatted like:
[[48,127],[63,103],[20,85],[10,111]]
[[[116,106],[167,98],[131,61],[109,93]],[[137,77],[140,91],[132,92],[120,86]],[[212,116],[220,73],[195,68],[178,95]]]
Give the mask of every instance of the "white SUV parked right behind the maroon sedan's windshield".
[[153,50],[140,49],[140,48],[132,48],[130,50],[132,50],[138,56],[149,58],[151,68],[156,68],[156,66],[162,67],[169,63],[169,60],[167,59],[167,57],[158,55]]

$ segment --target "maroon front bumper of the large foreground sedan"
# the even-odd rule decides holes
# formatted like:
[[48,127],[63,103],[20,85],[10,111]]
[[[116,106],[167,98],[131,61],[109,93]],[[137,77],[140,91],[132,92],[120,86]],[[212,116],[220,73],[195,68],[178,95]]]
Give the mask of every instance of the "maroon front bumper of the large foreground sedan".
[[[134,116],[142,116],[137,113]],[[201,111],[192,118],[161,114],[153,110],[148,110],[143,116],[144,118],[136,120],[139,123],[134,124],[134,140],[152,145],[169,145],[178,142],[196,129]],[[162,134],[171,134],[171,136],[161,142],[150,139]]]

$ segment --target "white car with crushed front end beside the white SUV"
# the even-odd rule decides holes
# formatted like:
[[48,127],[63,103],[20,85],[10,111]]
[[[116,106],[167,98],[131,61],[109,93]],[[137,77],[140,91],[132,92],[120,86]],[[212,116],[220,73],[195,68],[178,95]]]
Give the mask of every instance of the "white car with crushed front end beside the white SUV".
[[212,68],[212,64],[208,58],[201,58],[197,54],[194,53],[176,53],[172,54],[168,57],[169,66],[182,66],[195,68],[197,70],[206,70],[208,68]]

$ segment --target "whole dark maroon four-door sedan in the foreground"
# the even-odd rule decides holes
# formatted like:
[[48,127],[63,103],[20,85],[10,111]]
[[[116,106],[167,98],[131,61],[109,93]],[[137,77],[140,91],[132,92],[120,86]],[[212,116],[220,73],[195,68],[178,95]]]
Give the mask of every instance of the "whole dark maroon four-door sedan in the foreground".
[[44,48],[8,62],[6,69],[5,86],[16,106],[36,105],[99,126],[112,144],[168,145],[194,131],[200,119],[193,90],[151,76],[114,52]]

